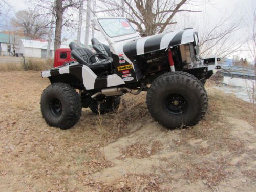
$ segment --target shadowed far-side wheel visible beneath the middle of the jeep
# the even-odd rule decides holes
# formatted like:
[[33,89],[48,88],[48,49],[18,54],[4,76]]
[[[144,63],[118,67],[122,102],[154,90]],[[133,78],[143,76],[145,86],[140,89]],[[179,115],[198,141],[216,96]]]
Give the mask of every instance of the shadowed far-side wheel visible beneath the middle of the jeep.
[[105,97],[103,95],[99,96],[97,100],[93,100],[89,105],[89,108],[95,114],[111,113],[118,109],[120,104],[119,96]]

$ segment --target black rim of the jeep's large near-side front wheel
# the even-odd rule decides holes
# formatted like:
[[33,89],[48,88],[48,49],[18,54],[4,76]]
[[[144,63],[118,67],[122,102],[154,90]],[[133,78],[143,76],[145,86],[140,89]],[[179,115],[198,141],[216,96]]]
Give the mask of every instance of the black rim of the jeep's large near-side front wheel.
[[171,94],[164,100],[166,110],[175,115],[183,113],[187,109],[187,100],[180,94]]

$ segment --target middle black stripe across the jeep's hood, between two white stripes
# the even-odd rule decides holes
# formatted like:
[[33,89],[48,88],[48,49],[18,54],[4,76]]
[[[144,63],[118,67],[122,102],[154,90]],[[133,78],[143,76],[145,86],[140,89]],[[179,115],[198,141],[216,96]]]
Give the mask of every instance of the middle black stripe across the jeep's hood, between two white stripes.
[[166,33],[161,33],[159,35],[153,36],[146,40],[144,45],[144,53],[157,51],[160,49],[161,39]]

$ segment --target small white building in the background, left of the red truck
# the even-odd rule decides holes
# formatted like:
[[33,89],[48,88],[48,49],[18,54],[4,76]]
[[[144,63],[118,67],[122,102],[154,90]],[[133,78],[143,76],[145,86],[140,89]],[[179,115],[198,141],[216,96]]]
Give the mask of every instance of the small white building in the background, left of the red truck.
[[[47,41],[40,40],[20,40],[18,53],[22,53],[25,57],[37,57],[37,58],[46,58],[47,51]],[[50,47],[50,57],[54,56],[54,45],[51,44]]]

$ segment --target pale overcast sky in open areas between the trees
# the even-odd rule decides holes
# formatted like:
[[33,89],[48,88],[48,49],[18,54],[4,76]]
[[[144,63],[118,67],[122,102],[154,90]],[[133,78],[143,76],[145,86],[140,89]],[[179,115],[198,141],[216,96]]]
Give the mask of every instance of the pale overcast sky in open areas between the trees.
[[[0,0],[2,1],[2,0]],[[14,15],[16,11],[28,9],[29,0],[6,0],[9,5],[12,7],[11,15]],[[207,0],[206,0],[207,1]],[[241,19],[242,25],[241,28],[234,32],[230,41],[245,41],[247,36],[245,35],[248,31],[248,27],[252,25],[252,12],[253,7],[256,8],[256,3],[253,3],[253,0],[208,0],[209,4],[203,4],[198,6],[188,6],[193,10],[201,10],[199,13],[181,13],[180,15],[176,15],[177,25],[174,25],[174,28],[182,28],[182,27],[193,27],[193,28],[202,28],[205,23],[212,23],[213,25],[218,22],[221,18],[230,18],[230,22],[234,19]],[[195,2],[198,2],[195,0]],[[254,4],[254,5],[252,5]],[[102,16],[102,15],[97,15]],[[84,19],[85,20],[85,19]],[[85,25],[85,21],[83,21],[83,28]],[[225,27],[225,26],[224,26]],[[103,36],[99,34],[99,32],[95,32],[95,36],[99,38],[99,40],[104,41]],[[199,33],[200,36],[200,33]],[[75,31],[63,31],[63,38],[68,38],[74,40],[76,38]],[[84,42],[84,31],[82,31],[81,42]],[[239,57],[249,57],[249,53],[246,51],[241,51],[236,53]]]

